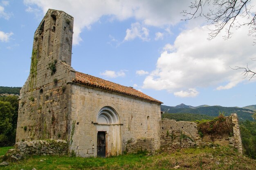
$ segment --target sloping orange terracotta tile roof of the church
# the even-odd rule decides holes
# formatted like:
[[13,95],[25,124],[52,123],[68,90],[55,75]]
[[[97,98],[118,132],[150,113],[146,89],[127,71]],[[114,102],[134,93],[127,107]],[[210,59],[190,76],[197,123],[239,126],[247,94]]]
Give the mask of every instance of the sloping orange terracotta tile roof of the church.
[[124,94],[127,96],[132,96],[135,98],[140,98],[146,101],[152,101],[155,103],[162,104],[161,101],[158,101],[142,92],[139,92],[136,89],[133,89],[132,87],[126,87],[123,85],[119,85],[117,83],[113,83],[111,81],[103,80],[102,78],[94,77],[88,74],[84,74],[81,72],[76,72],[76,78],[72,80],[74,83],[79,83],[83,85],[88,85],[91,87],[96,87],[99,89],[104,89],[110,92],[116,92],[119,94]]

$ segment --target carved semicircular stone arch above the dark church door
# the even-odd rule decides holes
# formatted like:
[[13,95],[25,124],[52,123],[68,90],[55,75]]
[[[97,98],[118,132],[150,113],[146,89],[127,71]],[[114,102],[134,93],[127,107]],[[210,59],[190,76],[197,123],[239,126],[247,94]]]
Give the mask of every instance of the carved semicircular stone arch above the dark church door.
[[99,110],[97,115],[97,123],[99,124],[118,124],[119,115],[113,107],[104,106]]

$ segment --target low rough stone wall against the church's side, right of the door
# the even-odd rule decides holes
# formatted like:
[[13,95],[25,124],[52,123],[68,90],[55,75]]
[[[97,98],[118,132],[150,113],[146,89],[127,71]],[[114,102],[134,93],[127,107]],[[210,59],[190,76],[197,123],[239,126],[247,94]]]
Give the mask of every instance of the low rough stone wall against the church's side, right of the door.
[[155,152],[154,140],[154,138],[137,139],[137,141],[130,139],[126,144],[126,151],[127,153],[136,153],[138,151],[153,153]]

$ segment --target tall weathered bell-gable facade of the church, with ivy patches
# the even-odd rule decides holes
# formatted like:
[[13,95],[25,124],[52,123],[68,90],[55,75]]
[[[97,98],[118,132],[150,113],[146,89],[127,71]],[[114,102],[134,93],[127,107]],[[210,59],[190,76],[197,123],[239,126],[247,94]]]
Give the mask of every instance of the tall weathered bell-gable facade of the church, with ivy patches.
[[29,77],[20,90],[16,142],[67,139],[67,83],[75,77],[72,27],[72,16],[49,9],[36,29]]

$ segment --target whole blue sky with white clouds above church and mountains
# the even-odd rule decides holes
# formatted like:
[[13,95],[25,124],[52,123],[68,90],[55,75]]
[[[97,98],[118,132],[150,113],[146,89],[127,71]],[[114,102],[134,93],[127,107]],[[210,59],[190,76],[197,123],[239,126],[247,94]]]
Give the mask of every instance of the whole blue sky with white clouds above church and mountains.
[[[252,12],[256,11],[256,2]],[[254,37],[247,26],[222,31],[181,13],[190,0],[0,0],[0,86],[22,87],[29,75],[33,37],[46,11],[74,17],[71,66],[131,86],[164,105],[255,105]],[[207,11],[209,8],[206,7]],[[248,17],[248,16],[247,16]],[[247,17],[238,17],[243,23]],[[249,16],[250,17],[250,16]]]

